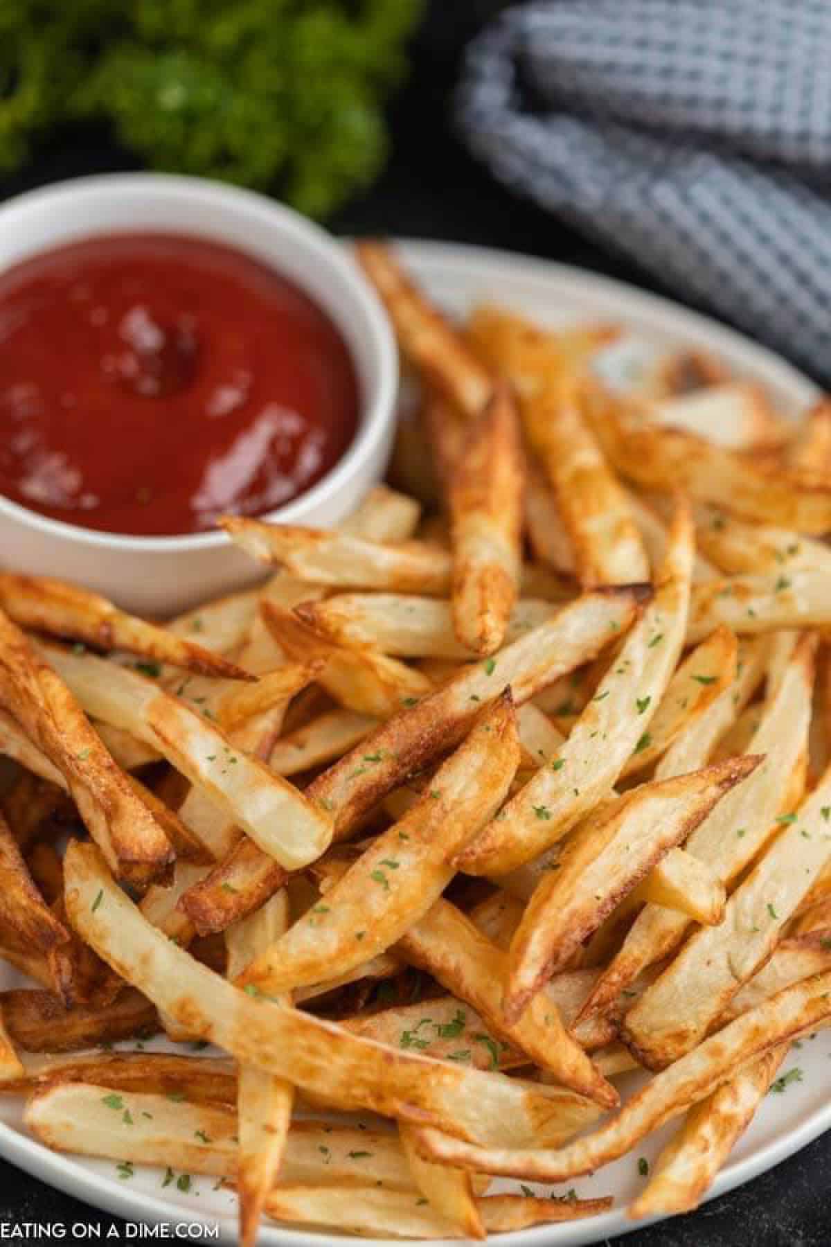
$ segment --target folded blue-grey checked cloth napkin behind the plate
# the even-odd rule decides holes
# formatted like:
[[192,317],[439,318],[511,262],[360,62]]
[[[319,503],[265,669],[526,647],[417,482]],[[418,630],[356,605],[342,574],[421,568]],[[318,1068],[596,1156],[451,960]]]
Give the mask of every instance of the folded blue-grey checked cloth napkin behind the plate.
[[457,121],[508,186],[831,383],[831,0],[521,5],[470,45]]

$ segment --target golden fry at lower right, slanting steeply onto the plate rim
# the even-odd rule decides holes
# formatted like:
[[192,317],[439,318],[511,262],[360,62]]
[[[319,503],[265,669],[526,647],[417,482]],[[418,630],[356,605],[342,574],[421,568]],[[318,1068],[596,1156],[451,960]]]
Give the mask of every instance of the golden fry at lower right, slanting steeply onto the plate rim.
[[786,1044],[771,1049],[690,1109],[684,1125],[655,1161],[645,1190],[629,1205],[633,1220],[690,1212],[699,1206],[734,1143],[750,1125],[786,1052]]

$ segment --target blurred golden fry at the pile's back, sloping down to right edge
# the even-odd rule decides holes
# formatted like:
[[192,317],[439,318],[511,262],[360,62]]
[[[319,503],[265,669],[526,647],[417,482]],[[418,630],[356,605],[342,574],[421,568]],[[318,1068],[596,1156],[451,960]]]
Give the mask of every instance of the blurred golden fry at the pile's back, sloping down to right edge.
[[683,489],[757,524],[822,535],[831,529],[831,488],[769,470],[681,429],[643,423],[602,385],[587,393],[601,445],[618,471],[647,489]]

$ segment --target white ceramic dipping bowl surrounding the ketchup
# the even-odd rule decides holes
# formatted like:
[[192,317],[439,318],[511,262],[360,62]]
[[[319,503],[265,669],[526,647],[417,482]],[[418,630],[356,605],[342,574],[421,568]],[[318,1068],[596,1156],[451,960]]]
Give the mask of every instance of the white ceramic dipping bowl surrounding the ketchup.
[[[194,177],[117,173],[60,182],[0,208],[0,269],[81,238],[181,233],[235,247],[299,286],[334,320],[360,387],[359,426],[316,485],[264,519],[328,527],[384,473],[390,454],[397,354],[386,315],[341,243],[264,196]],[[126,610],[164,617],[254,584],[263,569],[224,532],[121,536],[47,519],[0,496],[0,565],[60,576]]]

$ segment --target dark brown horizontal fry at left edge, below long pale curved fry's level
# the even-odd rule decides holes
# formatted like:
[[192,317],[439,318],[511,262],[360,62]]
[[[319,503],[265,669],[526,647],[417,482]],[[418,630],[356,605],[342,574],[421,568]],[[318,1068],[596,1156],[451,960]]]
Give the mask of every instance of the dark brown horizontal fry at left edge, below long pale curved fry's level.
[[9,1035],[27,1052],[72,1052],[158,1029],[152,1004],[130,989],[108,1004],[78,1004],[71,1009],[54,993],[37,989],[0,993],[0,1003]]

